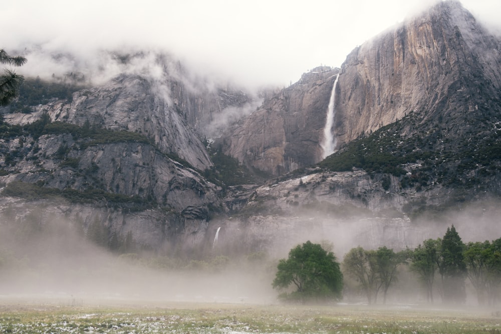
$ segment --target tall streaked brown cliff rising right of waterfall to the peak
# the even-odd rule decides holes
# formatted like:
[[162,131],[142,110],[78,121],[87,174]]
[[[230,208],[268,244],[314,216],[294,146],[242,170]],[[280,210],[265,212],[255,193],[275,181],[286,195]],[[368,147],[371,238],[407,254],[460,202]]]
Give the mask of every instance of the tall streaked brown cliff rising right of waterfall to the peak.
[[441,115],[459,126],[454,124],[458,115],[485,108],[486,97],[499,93],[499,46],[454,1],[441,2],[364,43],[341,69],[338,143],[413,111],[435,121]]

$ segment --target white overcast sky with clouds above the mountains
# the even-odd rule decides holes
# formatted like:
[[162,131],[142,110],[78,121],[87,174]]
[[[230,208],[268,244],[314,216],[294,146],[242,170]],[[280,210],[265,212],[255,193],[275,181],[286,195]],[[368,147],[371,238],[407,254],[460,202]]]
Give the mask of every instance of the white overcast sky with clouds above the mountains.
[[[165,50],[196,71],[248,85],[288,85],[434,0],[16,0],[2,5],[0,48],[92,57],[103,48]],[[500,0],[463,0],[499,25]],[[30,59],[29,59],[30,62]],[[35,64],[25,71],[36,71]],[[22,73],[22,69],[18,70]]]

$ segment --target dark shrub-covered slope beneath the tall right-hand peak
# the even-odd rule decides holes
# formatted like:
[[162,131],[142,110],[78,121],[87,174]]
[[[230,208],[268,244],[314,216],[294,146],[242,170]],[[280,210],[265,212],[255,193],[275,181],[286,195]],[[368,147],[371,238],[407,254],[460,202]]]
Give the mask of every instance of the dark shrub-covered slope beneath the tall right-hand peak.
[[[455,189],[487,190],[490,176],[501,166],[501,125],[490,131],[468,133],[459,140],[445,128],[416,126],[407,136],[406,128],[415,126],[414,115],[380,128],[348,143],[318,166],[330,171],[364,169],[369,173],[389,173],[400,178],[403,188],[441,184]],[[414,164],[412,172],[406,171]],[[497,191],[493,189],[494,191]]]

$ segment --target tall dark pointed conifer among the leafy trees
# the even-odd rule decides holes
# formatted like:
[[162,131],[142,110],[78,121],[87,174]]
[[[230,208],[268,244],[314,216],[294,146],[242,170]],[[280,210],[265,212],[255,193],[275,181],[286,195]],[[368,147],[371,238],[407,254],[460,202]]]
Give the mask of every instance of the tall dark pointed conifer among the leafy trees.
[[466,301],[466,263],[464,262],[464,243],[454,225],[442,238],[439,271],[442,277],[443,301],[464,303]]

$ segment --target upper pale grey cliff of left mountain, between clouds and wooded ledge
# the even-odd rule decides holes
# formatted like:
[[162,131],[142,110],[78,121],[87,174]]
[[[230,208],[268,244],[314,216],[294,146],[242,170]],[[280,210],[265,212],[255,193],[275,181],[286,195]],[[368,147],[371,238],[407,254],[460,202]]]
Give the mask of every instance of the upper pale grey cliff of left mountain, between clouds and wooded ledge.
[[48,114],[53,122],[138,132],[162,151],[204,170],[212,165],[200,141],[205,127],[225,108],[250,103],[250,97],[238,91],[196,91],[168,74],[164,79],[121,75],[104,86],[73,93],[71,102],[55,100],[33,107],[34,113],[8,113],[4,119],[23,125]]

